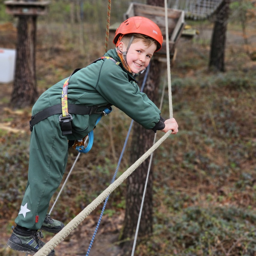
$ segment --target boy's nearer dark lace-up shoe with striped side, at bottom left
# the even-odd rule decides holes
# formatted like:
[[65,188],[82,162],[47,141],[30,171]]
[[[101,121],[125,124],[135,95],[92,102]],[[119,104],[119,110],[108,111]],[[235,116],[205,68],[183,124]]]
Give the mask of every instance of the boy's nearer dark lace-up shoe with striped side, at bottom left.
[[[44,242],[41,241],[43,238],[42,232],[36,230],[30,236],[22,236],[16,234],[15,231],[12,232],[12,236],[9,238],[7,245],[13,250],[25,252],[34,255],[39,249],[44,246]],[[52,250],[48,256],[53,256],[55,251]]]

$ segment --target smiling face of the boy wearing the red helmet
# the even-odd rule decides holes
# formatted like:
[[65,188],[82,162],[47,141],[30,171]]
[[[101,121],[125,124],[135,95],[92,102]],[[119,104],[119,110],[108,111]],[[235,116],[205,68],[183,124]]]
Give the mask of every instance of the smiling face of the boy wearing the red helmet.
[[[119,44],[119,49],[122,52],[126,52],[127,47],[124,43],[121,41]],[[156,44],[146,46],[141,40],[132,43],[126,55],[127,64],[129,68],[131,68],[132,72],[137,74],[144,68],[148,67],[149,61],[155,51]]]

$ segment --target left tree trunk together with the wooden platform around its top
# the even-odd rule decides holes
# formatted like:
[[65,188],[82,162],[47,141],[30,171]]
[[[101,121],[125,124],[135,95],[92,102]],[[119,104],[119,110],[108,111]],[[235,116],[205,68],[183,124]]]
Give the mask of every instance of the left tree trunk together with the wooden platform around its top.
[[36,85],[36,19],[45,15],[50,1],[8,0],[4,2],[6,12],[18,17],[16,67],[12,90],[14,107],[34,103]]

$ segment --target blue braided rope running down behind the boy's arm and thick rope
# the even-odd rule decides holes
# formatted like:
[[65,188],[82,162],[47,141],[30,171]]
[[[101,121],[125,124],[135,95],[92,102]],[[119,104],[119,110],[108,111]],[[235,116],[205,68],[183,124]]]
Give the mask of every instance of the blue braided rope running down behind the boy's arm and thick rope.
[[[145,84],[146,84],[146,80],[147,80],[147,76],[148,76],[148,71],[149,71],[149,65],[148,65],[148,68],[146,69],[146,73],[145,73],[145,76],[144,76],[144,79],[143,79],[143,83],[142,83],[142,86],[141,86],[141,89],[140,89],[141,92],[143,92],[143,90],[144,90],[144,87],[145,87]],[[112,178],[112,180],[111,180],[111,184],[112,184],[112,183],[115,181],[115,179],[116,179],[116,174],[117,174],[117,172],[118,172],[119,166],[120,166],[120,164],[121,164],[121,160],[122,160],[123,155],[124,155],[124,150],[125,150],[125,148],[126,148],[127,141],[128,141],[128,139],[129,139],[129,136],[130,136],[130,133],[131,133],[131,130],[132,130],[132,124],[133,124],[133,122],[134,122],[134,120],[131,121],[129,130],[128,130],[128,132],[127,132],[127,135],[126,135],[126,138],[125,138],[125,141],[124,141],[124,146],[123,146],[122,152],[121,152],[121,154],[120,154],[120,157],[119,157],[119,160],[118,160],[118,163],[117,163],[117,166],[116,166],[116,171],[115,171],[114,176],[113,176],[113,178]],[[104,203],[103,208],[102,208],[102,211],[101,211],[101,213],[100,213],[100,218],[99,218],[99,220],[98,220],[97,226],[96,226],[95,231],[94,231],[94,233],[93,233],[92,240],[91,240],[90,245],[89,245],[89,247],[88,247],[86,256],[88,256],[89,253],[90,253],[90,251],[91,251],[92,244],[93,244],[93,242],[94,242],[94,238],[95,238],[96,233],[97,233],[97,231],[98,231],[98,228],[99,228],[99,226],[100,226],[100,222],[101,222],[103,213],[104,213],[104,211],[105,211],[105,207],[106,207],[106,205],[107,205],[107,203],[108,203],[108,198],[109,198],[109,196],[110,196],[110,195],[108,195],[108,197],[105,199],[105,203]]]

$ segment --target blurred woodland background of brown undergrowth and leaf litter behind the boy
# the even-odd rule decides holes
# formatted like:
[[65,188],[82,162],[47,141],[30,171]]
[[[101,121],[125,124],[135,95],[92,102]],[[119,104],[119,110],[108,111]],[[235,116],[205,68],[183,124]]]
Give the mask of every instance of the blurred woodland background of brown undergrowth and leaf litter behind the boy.
[[[17,20],[5,13],[3,2],[0,47],[15,49]],[[70,2],[52,0],[48,14],[37,20],[39,94],[104,53],[107,1],[76,1],[73,11]],[[123,21],[128,6],[127,1],[112,2],[110,25]],[[251,6],[247,1],[230,6],[225,72],[208,68],[211,19],[186,20],[198,34],[180,38],[171,68],[179,133],[154,152],[154,230],[139,239],[135,255],[256,255],[256,21]],[[110,40],[108,49],[112,47]],[[159,95],[167,80],[165,64],[161,75]],[[12,83],[0,88],[0,256],[18,256],[24,254],[12,251],[6,242],[27,182],[31,107],[12,108]],[[169,116],[167,95],[164,117]],[[97,125],[93,147],[76,163],[53,218],[67,224],[109,185],[130,122],[114,108]],[[157,133],[157,139],[162,135]],[[117,176],[129,167],[132,147],[129,139]],[[76,155],[69,149],[63,182]],[[125,186],[110,195],[91,255],[123,255],[118,236]],[[102,206],[55,248],[56,256],[86,254]],[[44,236],[44,241],[52,237]]]

